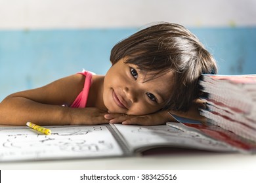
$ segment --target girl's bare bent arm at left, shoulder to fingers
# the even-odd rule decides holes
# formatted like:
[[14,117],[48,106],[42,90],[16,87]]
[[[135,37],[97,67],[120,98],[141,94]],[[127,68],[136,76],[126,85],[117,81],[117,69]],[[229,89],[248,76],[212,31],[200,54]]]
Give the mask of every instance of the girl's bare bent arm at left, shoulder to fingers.
[[[104,114],[96,108],[70,108],[79,92],[83,89],[85,77],[72,75],[56,80],[41,88],[13,93],[0,103],[0,124],[26,125],[26,122],[34,122],[38,125],[69,125],[101,123]],[[98,121],[91,119],[91,112],[102,116]],[[91,122],[92,121],[92,122]]]

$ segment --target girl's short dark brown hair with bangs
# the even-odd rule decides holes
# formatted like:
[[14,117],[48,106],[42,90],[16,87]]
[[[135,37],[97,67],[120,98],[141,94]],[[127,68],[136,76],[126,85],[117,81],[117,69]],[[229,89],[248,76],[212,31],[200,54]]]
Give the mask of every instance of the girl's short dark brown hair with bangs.
[[[174,72],[173,90],[163,109],[188,110],[198,98],[198,79],[202,73],[217,73],[213,56],[199,39],[179,24],[160,22],[146,27],[118,42],[111,50],[110,61],[138,66],[140,71]],[[168,81],[166,81],[168,83]]]

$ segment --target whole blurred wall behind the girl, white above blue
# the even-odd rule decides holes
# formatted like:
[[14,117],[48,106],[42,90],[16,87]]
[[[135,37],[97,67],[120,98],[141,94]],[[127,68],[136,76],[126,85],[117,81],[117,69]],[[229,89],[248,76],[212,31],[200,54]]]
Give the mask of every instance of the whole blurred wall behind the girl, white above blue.
[[0,101],[83,68],[104,75],[114,44],[161,21],[197,35],[219,74],[256,74],[255,0],[0,0]]

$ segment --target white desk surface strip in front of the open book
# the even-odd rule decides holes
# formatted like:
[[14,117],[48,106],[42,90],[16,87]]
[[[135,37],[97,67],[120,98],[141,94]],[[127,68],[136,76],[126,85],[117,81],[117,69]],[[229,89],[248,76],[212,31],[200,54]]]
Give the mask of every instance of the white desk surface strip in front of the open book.
[[0,169],[205,169],[253,170],[256,155],[211,152],[175,153],[162,156],[129,158],[70,159],[58,161],[26,161],[0,163]]

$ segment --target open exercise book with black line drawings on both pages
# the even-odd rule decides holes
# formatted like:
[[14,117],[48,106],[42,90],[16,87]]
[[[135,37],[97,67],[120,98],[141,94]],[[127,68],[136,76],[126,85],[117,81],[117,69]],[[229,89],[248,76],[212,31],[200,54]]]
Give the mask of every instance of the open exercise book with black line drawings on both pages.
[[51,135],[29,127],[0,127],[0,162],[135,156],[157,147],[243,152],[181,123],[166,125],[48,126]]

